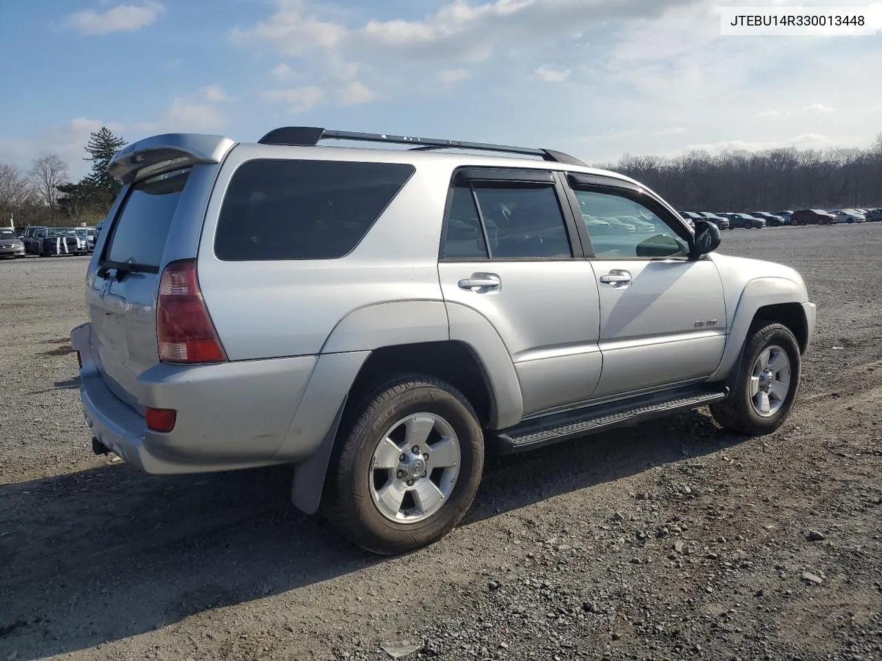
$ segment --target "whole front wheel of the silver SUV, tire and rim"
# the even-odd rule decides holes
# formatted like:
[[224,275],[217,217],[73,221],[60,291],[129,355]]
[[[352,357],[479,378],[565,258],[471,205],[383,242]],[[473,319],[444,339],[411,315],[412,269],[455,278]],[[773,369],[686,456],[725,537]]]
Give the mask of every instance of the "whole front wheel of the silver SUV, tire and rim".
[[789,328],[755,325],[744,345],[736,386],[727,399],[710,405],[711,414],[737,434],[771,434],[793,409],[800,375],[799,345]]

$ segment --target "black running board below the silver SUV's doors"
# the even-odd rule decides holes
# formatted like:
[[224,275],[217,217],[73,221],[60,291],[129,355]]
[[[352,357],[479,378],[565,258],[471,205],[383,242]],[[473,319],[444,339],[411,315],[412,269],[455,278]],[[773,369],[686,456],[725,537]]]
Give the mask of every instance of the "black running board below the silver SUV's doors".
[[713,389],[690,387],[665,390],[526,420],[515,427],[489,433],[487,440],[497,453],[510,455],[579,436],[597,434],[614,427],[689,411],[720,402],[728,395],[729,389],[720,384],[715,384]]

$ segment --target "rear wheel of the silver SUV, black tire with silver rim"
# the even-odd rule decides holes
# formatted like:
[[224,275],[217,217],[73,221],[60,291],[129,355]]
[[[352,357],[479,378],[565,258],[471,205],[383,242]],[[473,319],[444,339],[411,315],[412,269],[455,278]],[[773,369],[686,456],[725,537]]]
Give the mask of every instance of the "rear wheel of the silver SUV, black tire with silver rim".
[[[419,455],[410,451],[414,436],[407,433],[405,421],[413,422],[411,416],[417,416],[415,422],[423,429],[430,426],[425,442],[417,441]],[[325,517],[344,537],[371,553],[392,555],[429,545],[460,523],[481,483],[484,442],[475,409],[459,390],[430,376],[399,375],[370,391],[347,419],[351,424],[341,429],[347,435],[328,468],[322,498]],[[430,420],[435,422],[430,425]],[[387,447],[384,454],[387,438],[396,447]],[[444,450],[440,449],[442,444]],[[396,456],[398,452],[403,454]],[[395,467],[372,469],[375,457],[379,461],[385,457],[386,463]],[[406,457],[407,462],[401,462],[400,457]],[[425,464],[418,463],[421,457]],[[433,468],[433,457],[453,466]],[[416,477],[408,486],[405,480],[411,474],[402,467],[410,471],[421,466],[428,469],[423,472],[425,477]],[[419,497],[427,486],[426,497],[434,497],[428,507],[422,506]],[[387,504],[380,501],[386,487],[389,494],[404,492],[403,498],[397,499],[399,509],[394,510],[394,498]],[[442,493],[443,502],[437,505],[437,494]],[[433,502],[437,509],[433,509]],[[410,516],[411,520],[392,520],[392,516]]]

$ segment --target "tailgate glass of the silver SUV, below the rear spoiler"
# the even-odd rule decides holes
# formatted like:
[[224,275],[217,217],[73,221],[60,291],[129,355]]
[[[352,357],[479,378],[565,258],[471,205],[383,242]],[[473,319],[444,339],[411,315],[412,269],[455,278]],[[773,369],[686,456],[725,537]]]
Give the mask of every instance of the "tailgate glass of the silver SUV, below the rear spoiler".
[[104,260],[159,269],[183,186],[190,170],[157,175],[136,183],[111,227]]

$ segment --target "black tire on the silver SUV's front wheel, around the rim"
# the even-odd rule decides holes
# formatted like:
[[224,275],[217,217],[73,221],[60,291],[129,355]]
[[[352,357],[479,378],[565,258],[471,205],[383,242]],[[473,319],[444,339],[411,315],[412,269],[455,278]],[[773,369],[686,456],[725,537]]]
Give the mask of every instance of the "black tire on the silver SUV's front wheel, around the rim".
[[[774,389],[773,386],[773,391],[766,394],[769,411],[760,414],[754,402],[755,398],[751,396],[751,382],[760,357],[770,349],[772,358],[769,361],[770,368],[774,369],[784,364],[781,362],[781,354],[786,357],[785,362],[789,367],[789,387],[783,397],[775,397],[774,390],[780,395],[781,389]],[[783,370],[774,373],[774,382],[783,381],[782,372]],[[744,345],[736,386],[728,398],[710,405],[711,415],[721,427],[736,434],[748,436],[771,434],[784,424],[793,410],[799,392],[801,374],[799,345],[789,328],[781,323],[755,323]],[[774,411],[773,407],[776,407]]]

